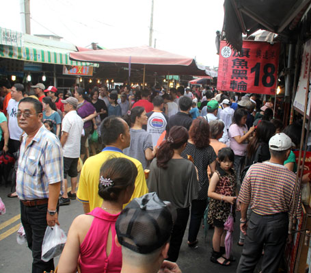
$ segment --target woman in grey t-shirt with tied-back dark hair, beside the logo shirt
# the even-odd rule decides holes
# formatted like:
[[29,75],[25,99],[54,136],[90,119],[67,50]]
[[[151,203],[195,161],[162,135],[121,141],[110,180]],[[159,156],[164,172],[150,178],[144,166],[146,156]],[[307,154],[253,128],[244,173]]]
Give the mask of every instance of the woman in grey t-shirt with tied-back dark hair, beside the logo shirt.
[[150,160],[152,160],[157,152],[153,149],[152,138],[150,133],[147,133],[142,126],[147,125],[148,116],[144,107],[137,106],[129,111],[123,117],[129,125],[131,133],[131,144],[123,150],[124,155],[134,157],[139,160],[144,168],[148,168]]

